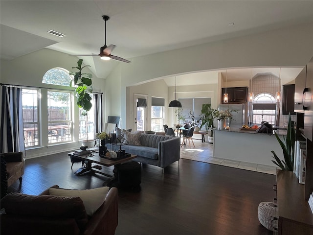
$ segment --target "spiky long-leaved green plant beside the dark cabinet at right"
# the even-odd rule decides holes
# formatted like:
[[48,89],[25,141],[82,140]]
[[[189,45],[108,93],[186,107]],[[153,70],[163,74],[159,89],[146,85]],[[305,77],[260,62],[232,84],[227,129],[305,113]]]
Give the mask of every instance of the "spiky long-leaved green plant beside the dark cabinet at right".
[[291,121],[291,115],[289,113],[289,121],[287,128],[287,136],[283,135],[283,140],[279,138],[276,131],[274,132],[277,141],[282,147],[284,160],[280,160],[274,151],[271,153],[274,155],[272,158],[272,162],[278,165],[282,170],[290,170],[293,171],[293,162],[294,162],[294,142],[295,142],[295,130],[294,130],[294,122]]

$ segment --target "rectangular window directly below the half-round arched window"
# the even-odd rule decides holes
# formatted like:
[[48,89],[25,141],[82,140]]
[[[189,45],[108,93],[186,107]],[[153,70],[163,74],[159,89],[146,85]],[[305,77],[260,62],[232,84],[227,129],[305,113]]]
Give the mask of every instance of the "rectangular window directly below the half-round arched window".
[[48,143],[72,141],[71,92],[48,91]]

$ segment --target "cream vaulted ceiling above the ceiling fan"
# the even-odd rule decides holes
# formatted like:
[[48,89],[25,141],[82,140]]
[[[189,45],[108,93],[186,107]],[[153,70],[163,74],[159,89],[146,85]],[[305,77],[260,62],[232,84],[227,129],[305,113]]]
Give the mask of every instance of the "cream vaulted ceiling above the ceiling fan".
[[[132,60],[312,23],[313,1],[1,0],[0,13],[1,59],[14,59],[41,48],[67,54],[98,54],[104,45],[102,15],[108,15],[107,44],[117,46],[112,54]],[[65,36],[51,35],[47,33],[50,29]],[[81,58],[101,78],[123,63],[103,61],[99,56]],[[229,79],[251,77],[251,69],[229,72]],[[277,68],[263,72],[277,75]]]

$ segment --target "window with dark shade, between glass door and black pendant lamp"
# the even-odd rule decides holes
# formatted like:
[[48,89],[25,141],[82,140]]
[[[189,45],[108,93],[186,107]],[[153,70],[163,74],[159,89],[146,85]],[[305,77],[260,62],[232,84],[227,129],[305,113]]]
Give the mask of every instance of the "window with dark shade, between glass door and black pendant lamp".
[[164,125],[164,98],[151,98],[151,130],[163,131]]

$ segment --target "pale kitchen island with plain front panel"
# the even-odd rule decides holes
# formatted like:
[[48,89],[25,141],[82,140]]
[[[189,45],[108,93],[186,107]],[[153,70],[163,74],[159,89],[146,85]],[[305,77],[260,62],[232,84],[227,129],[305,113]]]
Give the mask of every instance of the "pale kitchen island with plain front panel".
[[[276,130],[278,135],[286,135],[286,130]],[[214,130],[213,156],[240,162],[275,165],[272,160],[274,150],[280,159],[284,159],[283,150],[275,135],[257,133],[255,130]]]

